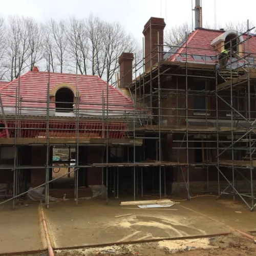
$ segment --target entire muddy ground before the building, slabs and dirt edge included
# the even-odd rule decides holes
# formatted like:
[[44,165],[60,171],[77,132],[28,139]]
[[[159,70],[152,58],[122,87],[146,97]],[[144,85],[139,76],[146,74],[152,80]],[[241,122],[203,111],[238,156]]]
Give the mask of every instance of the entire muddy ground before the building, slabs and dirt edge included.
[[[219,237],[222,233],[233,233],[232,227],[246,232],[256,231],[256,212],[250,212],[241,202],[198,197],[169,209],[119,205],[120,201],[129,200],[131,198],[112,198],[106,204],[98,198],[79,201],[78,206],[74,200],[51,203],[44,211],[55,254],[256,255],[255,245],[243,237]],[[1,207],[0,254],[46,248],[41,237],[38,202],[29,205],[20,204],[16,211],[11,210],[11,204]],[[126,214],[130,216],[115,218]],[[193,238],[209,235],[216,238]],[[65,250],[75,246],[83,249]],[[45,256],[47,253],[34,255]]]

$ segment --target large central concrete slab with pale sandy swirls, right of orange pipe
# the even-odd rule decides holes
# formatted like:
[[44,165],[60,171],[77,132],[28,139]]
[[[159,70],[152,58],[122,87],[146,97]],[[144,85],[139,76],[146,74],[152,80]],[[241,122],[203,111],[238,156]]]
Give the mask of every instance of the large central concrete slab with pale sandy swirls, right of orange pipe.
[[[131,198],[129,198],[131,200]],[[126,201],[126,200],[125,200]],[[128,201],[128,200],[127,200]],[[55,202],[45,210],[54,248],[93,246],[161,238],[203,236],[231,230],[174,205],[170,209],[119,206],[120,200]],[[115,218],[115,216],[132,214]]]

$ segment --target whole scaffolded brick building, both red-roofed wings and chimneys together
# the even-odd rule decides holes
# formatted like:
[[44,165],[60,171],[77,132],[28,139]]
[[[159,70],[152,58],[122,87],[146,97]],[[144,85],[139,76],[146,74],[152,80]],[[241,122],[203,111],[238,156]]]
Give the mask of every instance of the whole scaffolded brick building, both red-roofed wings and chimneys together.
[[[118,90],[96,76],[38,71],[4,85],[1,182],[13,179],[15,156],[24,180],[42,184],[53,147],[70,146],[79,151],[78,186],[189,198],[252,184],[256,36],[196,28],[166,50],[164,27],[156,17],[145,24],[142,62],[134,66],[133,53],[119,57]],[[218,56],[230,47],[234,55],[220,69]]]

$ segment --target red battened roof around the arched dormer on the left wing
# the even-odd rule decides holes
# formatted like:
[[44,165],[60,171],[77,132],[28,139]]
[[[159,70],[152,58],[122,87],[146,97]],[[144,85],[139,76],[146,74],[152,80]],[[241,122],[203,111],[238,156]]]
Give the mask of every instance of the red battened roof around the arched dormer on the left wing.
[[[59,83],[70,83],[76,87],[76,74],[50,73],[50,91]],[[47,72],[28,71],[20,76],[20,96],[23,107],[46,108],[47,106]],[[102,91],[106,103],[107,87],[109,88],[109,110],[125,110],[133,107],[133,101],[125,97],[118,90],[108,85],[98,76],[77,75],[77,89],[79,91],[79,109],[102,109]],[[15,96],[18,79],[0,88],[0,93]],[[3,96],[4,106],[15,106],[15,97]],[[86,103],[86,104],[83,104]],[[127,107],[128,106],[128,107]],[[50,108],[55,108],[50,103]]]

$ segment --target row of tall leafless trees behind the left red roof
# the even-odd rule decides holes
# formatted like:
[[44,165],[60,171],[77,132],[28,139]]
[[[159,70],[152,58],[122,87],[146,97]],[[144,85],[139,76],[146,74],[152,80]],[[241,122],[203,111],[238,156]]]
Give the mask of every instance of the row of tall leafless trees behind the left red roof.
[[7,40],[11,80],[18,76],[20,58],[20,72],[32,70],[38,62],[61,73],[74,72],[77,65],[80,74],[98,75],[110,82],[122,52],[137,53],[137,59],[141,53],[137,41],[119,23],[103,22],[92,14],[84,19],[51,19],[45,25],[33,18],[10,17]]

